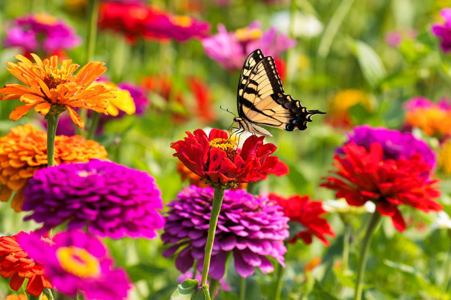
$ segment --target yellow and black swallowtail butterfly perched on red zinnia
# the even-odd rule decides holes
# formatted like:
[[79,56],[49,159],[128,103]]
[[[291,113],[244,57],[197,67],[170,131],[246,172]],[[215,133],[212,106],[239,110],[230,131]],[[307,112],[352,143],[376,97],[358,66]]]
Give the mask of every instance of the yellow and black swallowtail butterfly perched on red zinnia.
[[271,137],[272,134],[260,125],[287,131],[305,130],[307,122],[319,110],[307,110],[299,100],[284,94],[276,64],[262,50],[254,50],[244,61],[239,76],[237,93],[238,116],[233,121],[238,130]]

